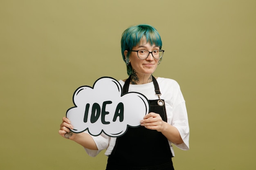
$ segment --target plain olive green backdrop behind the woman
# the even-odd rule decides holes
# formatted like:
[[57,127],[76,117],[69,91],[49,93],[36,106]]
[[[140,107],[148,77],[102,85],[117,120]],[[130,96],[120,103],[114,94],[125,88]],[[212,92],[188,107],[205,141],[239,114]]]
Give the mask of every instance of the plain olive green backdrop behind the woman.
[[106,167],[58,129],[76,88],[127,78],[121,33],[141,23],[162,37],[154,75],[186,100],[175,170],[256,169],[255,0],[0,0],[0,170]]

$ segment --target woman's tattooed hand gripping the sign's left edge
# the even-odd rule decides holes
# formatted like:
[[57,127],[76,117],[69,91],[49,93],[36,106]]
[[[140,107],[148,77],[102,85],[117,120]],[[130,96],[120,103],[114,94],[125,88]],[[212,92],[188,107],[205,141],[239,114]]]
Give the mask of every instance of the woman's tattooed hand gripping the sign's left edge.
[[73,126],[71,125],[70,120],[67,119],[67,117],[63,117],[62,123],[60,126],[61,127],[60,127],[60,130],[58,131],[58,133],[66,139],[73,140],[74,137],[76,136],[76,134],[70,131],[70,129],[73,129]]

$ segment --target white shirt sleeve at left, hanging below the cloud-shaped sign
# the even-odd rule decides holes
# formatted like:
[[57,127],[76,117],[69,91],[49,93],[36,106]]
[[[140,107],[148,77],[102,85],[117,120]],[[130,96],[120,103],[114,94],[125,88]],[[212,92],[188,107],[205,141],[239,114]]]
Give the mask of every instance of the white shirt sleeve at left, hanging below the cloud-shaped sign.
[[[85,133],[88,133],[88,131],[85,131]],[[99,136],[91,135],[91,137],[94,140],[98,150],[91,150],[91,149],[85,148],[85,151],[90,157],[96,157],[99,154],[99,152],[101,152],[101,150],[108,148],[110,137],[108,137],[104,133],[101,133],[101,135]]]

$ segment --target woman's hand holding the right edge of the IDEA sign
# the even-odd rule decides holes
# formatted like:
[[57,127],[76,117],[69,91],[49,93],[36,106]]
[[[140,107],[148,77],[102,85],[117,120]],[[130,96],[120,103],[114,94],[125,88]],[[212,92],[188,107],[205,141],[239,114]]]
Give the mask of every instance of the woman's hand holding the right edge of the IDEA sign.
[[145,126],[147,129],[157,130],[162,132],[165,128],[166,122],[162,120],[162,117],[157,113],[148,113],[144,116],[144,119],[140,121],[141,126]]

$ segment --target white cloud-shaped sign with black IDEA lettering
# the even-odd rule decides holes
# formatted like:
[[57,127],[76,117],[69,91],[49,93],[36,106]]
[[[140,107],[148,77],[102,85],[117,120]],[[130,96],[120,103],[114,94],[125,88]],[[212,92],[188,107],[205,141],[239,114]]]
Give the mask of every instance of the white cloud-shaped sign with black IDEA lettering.
[[88,130],[90,135],[102,132],[110,137],[124,135],[128,126],[140,126],[149,112],[148,99],[137,92],[122,94],[121,84],[112,77],[101,77],[93,87],[81,86],[73,95],[74,107],[67,110],[74,133]]

